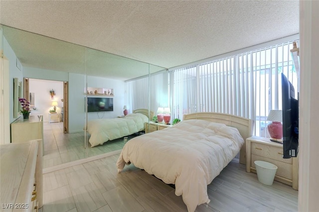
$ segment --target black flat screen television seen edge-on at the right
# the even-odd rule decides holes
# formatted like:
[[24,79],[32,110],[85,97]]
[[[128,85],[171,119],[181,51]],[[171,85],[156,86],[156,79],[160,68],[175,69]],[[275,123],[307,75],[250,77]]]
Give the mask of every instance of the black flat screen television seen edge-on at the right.
[[281,74],[283,103],[283,158],[297,157],[299,150],[299,107],[293,84]]

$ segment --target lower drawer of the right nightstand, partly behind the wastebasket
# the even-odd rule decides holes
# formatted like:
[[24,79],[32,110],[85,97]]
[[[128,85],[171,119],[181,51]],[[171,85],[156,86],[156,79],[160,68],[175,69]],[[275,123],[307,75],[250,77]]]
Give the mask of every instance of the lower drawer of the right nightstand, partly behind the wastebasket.
[[266,157],[252,154],[251,155],[251,166],[254,168],[256,168],[255,163],[254,163],[256,160],[262,160],[262,161],[266,161],[266,162],[270,162],[272,164],[275,164],[276,166],[278,166],[276,175],[287,178],[289,180],[293,179],[293,167],[292,166],[289,166],[286,163],[278,161],[278,160],[273,160],[270,158],[266,158]]

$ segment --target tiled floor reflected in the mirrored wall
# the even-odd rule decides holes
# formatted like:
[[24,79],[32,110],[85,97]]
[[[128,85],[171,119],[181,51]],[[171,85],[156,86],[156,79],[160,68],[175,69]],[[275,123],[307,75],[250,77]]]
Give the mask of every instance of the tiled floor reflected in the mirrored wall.
[[[128,136],[128,140],[136,135]],[[103,145],[84,148],[84,132],[63,133],[63,122],[43,123],[43,168],[122,149],[123,138],[107,141]]]

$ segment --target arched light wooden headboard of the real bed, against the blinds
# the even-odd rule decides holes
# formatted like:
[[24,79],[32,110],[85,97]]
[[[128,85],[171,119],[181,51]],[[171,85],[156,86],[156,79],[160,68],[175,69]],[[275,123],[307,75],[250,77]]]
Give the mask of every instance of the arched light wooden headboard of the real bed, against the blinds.
[[246,139],[253,135],[254,121],[240,116],[234,116],[225,113],[190,113],[184,114],[183,120],[201,119],[216,123],[223,123],[227,126],[237,128],[245,143],[240,149],[239,162],[246,164]]

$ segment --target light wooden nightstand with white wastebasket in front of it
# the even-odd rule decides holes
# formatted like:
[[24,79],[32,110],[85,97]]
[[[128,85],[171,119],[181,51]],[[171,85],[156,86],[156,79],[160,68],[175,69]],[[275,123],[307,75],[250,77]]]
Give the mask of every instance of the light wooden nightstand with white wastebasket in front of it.
[[256,136],[246,139],[247,172],[256,173],[255,160],[267,161],[278,166],[275,180],[298,190],[298,157],[283,158],[283,144]]

